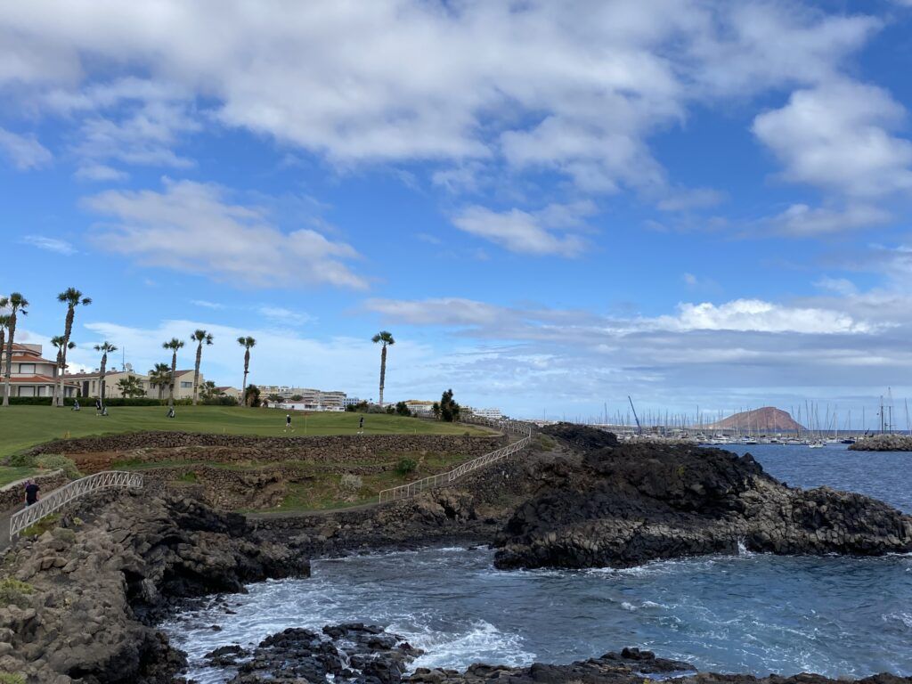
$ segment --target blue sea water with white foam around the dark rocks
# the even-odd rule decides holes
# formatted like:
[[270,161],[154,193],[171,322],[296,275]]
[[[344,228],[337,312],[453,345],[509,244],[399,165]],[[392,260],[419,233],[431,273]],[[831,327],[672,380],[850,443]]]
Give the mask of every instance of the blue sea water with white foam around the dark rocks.
[[[756,445],[773,475],[912,511],[912,454]],[[639,646],[703,670],[912,675],[912,557],[710,556],[626,570],[492,568],[486,549],[427,549],[318,561],[306,580],[251,586],[165,626],[201,682],[202,654],[285,627],[360,620],[427,650],[416,666],[569,662]],[[212,625],[222,627],[213,631]]]

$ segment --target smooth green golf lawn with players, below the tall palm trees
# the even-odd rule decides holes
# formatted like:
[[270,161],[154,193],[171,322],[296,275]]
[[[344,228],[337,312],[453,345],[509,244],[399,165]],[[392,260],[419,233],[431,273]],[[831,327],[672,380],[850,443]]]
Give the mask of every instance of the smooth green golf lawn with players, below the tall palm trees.
[[95,415],[94,407],[81,411],[52,409],[49,406],[9,406],[0,408],[0,459],[40,444],[67,437],[141,430],[181,430],[218,434],[291,437],[302,435],[342,435],[358,432],[364,416],[365,434],[485,434],[464,424],[402,418],[386,414],[303,413],[292,411],[294,433],[283,432],[285,413],[281,409],[245,409],[226,406],[178,406],[177,417],[165,417],[161,406],[125,406],[109,409],[109,416]]

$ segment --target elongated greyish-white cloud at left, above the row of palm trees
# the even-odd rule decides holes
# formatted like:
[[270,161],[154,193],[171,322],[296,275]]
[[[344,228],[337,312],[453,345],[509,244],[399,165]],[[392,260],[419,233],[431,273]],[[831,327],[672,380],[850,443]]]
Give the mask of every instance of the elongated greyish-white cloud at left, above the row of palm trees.
[[98,227],[102,249],[142,264],[256,286],[334,285],[367,281],[344,260],[358,253],[309,228],[285,233],[264,210],[226,202],[226,191],[193,181],[164,181],[164,191],[107,191],[84,200],[113,223]]

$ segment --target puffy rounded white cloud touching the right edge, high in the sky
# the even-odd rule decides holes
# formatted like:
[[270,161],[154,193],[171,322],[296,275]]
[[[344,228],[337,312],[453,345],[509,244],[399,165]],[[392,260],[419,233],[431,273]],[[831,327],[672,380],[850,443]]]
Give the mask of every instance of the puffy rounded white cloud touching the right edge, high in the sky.
[[782,161],[783,178],[850,197],[912,190],[912,142],[891,135],[905,109],[883,88],[846,79],[797,90],[753,132]]

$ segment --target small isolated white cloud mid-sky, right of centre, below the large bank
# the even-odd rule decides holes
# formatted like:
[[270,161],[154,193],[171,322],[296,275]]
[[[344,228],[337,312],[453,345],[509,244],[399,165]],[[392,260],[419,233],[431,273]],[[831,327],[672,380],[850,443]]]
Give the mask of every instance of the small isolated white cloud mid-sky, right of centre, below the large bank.
[[457,214],[452,223],[465,233],[490,240],[518,254],[573,257],[583,253],[586,241],[575,233],[565,231],[581,228],[582,218],[593,212],[595,208],[586,202],[551,204],[539,212],[519,209],[493,212],[472,206]]

